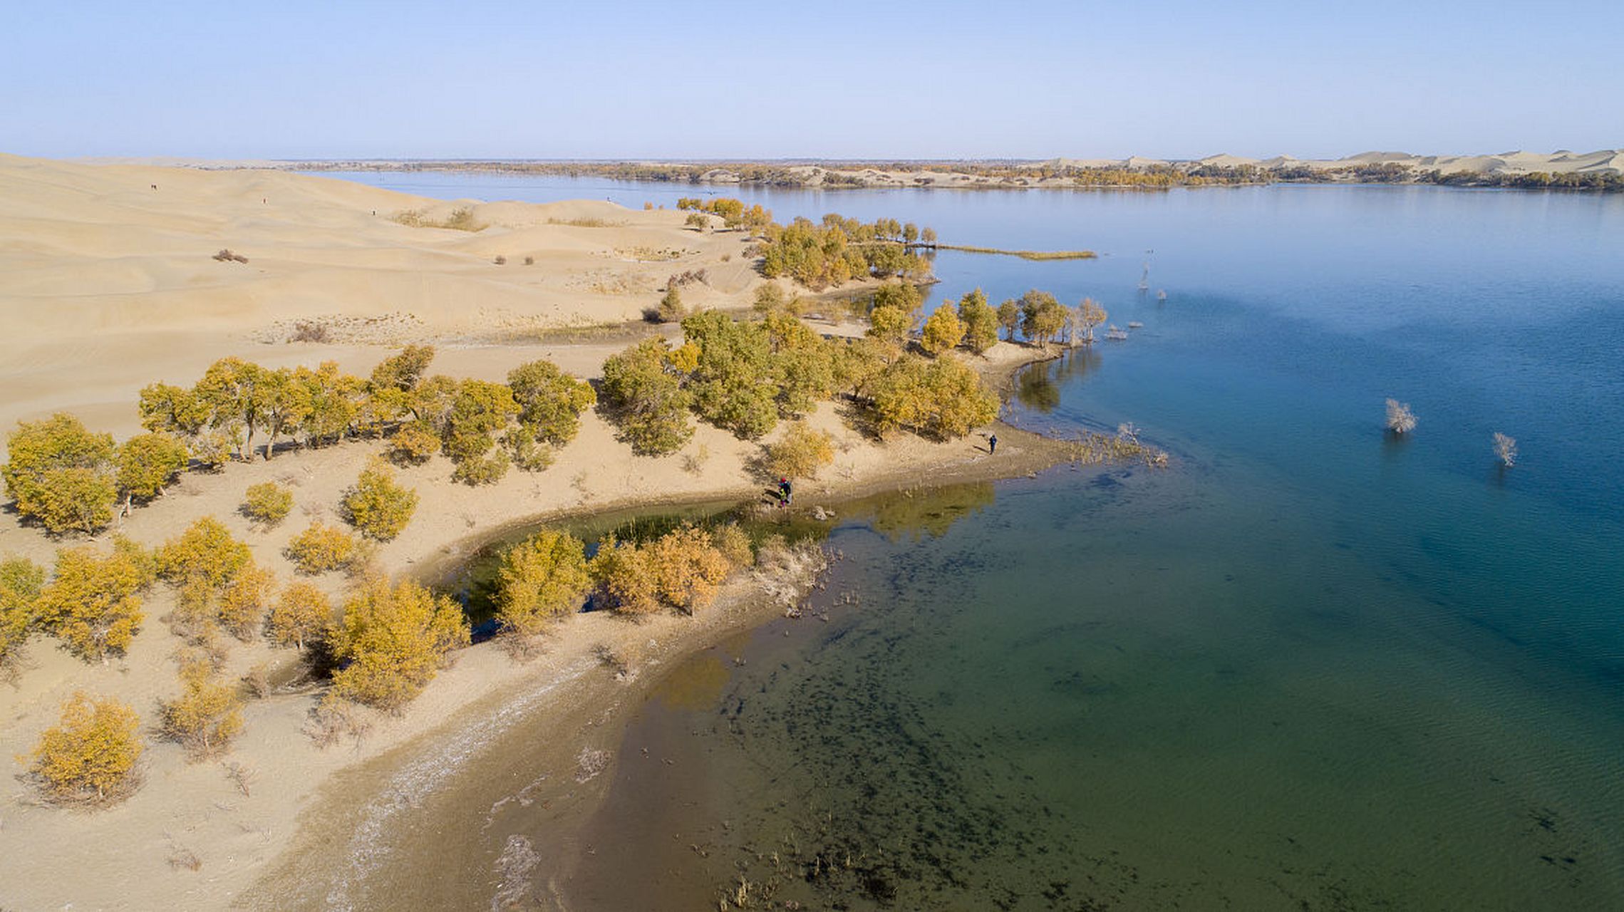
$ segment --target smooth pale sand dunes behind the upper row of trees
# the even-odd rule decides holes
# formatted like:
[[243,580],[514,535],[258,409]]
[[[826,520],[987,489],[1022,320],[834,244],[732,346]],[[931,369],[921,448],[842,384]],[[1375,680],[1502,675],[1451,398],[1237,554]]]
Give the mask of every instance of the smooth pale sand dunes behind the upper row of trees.
[[[486,227],[395,221],[460,208]],[[682,219],[603,201],[448,203],[279,170],[0,156],[0,427],[73,407],[122,437],[143,385],[195,378],[214,357],[315,364],[356,344],[620,323],[672,273],[711,274],[715,287],[687,289],[697,303],[760,281],[737,256],[741,235]],[[248,261],[213,260],[221,248]],[[367,331],[266,349],[299,320]]]

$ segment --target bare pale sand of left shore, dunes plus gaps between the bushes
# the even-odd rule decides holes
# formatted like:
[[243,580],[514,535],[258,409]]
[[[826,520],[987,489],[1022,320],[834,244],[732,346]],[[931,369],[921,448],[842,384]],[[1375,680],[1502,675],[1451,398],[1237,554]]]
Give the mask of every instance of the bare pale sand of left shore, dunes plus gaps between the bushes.
[[[393,217],[414,211],[438,221],[461,208],[487,227],[409,227]],[[440,203],[281,172],[0,156],[0,308],[8,328],[0,336],[0,427],[70,411],[125,438],[138,430],[141,386],[190,385],[224,355],[271,367],[336,360],[365,373],[393,346],[417,341],[438,347],[434,370],[451,376],[502,380],[536,357],[593,376],[627,344],[624,334],[641,331],[624,325],[658,300],[666,276],[706,269],[706,284],[684,290],[705,307],[742,307],[762,281],[741,255],[739,234],[697,234],[682,217],[607,203]],[[221,248],[248,261],[218,261]],[[289,342],[299,323],[325,328],[326,341]],[[617,329],[581,329],[591,326]],[[586,341],[568,342],[560,334],[568,328]],[[984,370],[1002,383],[1033,351],[999,344],[989,355]],[[802,485],[807,505],[883,487],[1026,474],[1065,459],[1057,441],[1002,425],[992,459],[979,437],[874,443],[846,428],[830,404],[810,422],[836,437],[838,454],[822,482]],[[312,516],[335,516],[339,492],[377,448],[346,443],[188,474],[125,519],[122,532],[158,545],[213,514],[286,581],[287,539]],[[637,458],[588,412],[580,437],[539,474],[513,471],[495,485],[469,488],[450,482],[443,458],[404,469],[401,480],[417,488],[421,503],[378,561],[390,573],[443,566],[482,537],[546,514],[749,497],[757,482],[745,461],[758,451],[757,443],[700,425],[684,451],[695,459]],[[271,479],[294,488],[296,508],[281,526],[255,531],[237,506],[248,485]],[[49,566],[60,544],[0,514],[0,555]],[[338,574],[318,583],[335,596],[346,584]],[[455,769],[458,751],[486,743],[481,738],[500,733],[516,712],[555,714],[560,738],[547,756],[560,772],[573,771],[583,746],[606,745],[601,725],[612,704],[635,691],[603,670],[594,646],[637,646],[653,667],[778,610],[760,599],[758,586],[739,579],[700,618],[635,625],[577,615],[528,664],[490,646],[464,649],[403,716],[374,717],[364,737],[326,750],[302,733],[315,695],[276,693],[248,703],[247,730],[224,763],[190,764],[149,730],[156,701],[179,690],[172,656],[180,641],[159,620],[172,605],[167,587],[153,591],[148,620],[122,659],[84,664],[36,638],[18,680],[0,683],[0,758],[13,774],[24,769],[15,758],[55,722],[75,690],[119,696],[141,712],[146,729],[145,785],[110,810],[44,807],[15,781],[0,803],[0,907],[284,907],[294,897],[284,889],[310,865],[364,852],[349,829],[354,816],[339,818],[349,821],[344,832],[323,816],[341,798],[372,807],[367,789],[383,789],[411,800],[411,789],[432,787],[434,776]],[[274,670],[296,657],[263,643],[234,644],[226,675],[261,662]],[[440,766],[414,768],[414,758],[438,758]],[[226,764],[239,764],[237,781]],[[421,776],[412,777],[414,769]],[[309,883],[297,896],[326,902]]]

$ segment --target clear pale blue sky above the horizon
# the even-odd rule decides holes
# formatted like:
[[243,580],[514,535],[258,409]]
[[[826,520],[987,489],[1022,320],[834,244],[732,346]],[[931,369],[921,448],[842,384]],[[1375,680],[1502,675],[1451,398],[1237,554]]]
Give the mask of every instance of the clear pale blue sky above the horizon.
[[29,156],[1624,146],[1621,0],[5,6],[0,151]]

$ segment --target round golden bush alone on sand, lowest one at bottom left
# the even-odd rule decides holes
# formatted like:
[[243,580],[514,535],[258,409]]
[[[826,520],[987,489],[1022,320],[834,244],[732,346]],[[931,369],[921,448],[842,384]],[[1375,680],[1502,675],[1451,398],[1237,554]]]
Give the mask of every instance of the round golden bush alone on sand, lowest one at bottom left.
[[140,724],[135,709],[117,699],[75,693],[62,704],[60,722],[39,737],[29,771],[57,800],[101,805],[125,798],[140,784]]

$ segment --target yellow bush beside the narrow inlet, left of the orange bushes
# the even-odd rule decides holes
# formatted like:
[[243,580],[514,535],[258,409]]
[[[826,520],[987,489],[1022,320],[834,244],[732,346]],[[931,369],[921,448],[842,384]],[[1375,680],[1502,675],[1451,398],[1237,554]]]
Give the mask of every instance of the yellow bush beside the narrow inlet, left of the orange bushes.
[[591,589],[586,548],[568,532],[544,529],[502,555],[497,622],[521,636],[581,605]]

